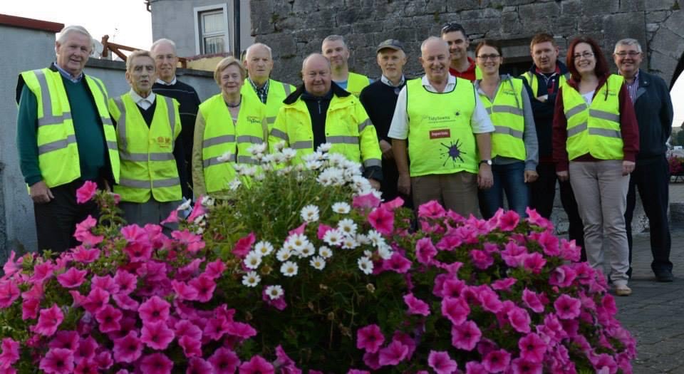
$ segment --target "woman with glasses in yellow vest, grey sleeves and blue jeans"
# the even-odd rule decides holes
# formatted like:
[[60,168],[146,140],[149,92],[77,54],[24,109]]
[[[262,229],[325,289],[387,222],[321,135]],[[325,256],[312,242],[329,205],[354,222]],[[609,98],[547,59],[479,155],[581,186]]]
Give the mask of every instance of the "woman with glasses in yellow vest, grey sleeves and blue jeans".
[[475,80],[475,90],[494,125],[492,134],[492,175],[494,185],[480,190],[480,211],[489,219],[504,207],[522,217],[529,205],[527,183],[537,180],[539,146],[534,128],[532,104],[527,85],[508,74],[499,75],[503,61],[501,47],[484,40],[475,48],[482,79]]

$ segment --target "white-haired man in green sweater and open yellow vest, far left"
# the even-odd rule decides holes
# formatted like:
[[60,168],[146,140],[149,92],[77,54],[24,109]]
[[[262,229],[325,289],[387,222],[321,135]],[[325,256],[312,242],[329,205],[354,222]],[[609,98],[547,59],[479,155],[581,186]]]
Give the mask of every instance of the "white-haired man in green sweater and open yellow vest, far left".
[[76,224],[97,216],[98,208],[78,204],[76,189],[88,180],[104,188],[119,177],[107,90],[83,73],[93,38],[82,26],[67,26],[55,46],[56,62],[24,71],[16,84],[19,164],[33,199],[39,251],[78,245]]

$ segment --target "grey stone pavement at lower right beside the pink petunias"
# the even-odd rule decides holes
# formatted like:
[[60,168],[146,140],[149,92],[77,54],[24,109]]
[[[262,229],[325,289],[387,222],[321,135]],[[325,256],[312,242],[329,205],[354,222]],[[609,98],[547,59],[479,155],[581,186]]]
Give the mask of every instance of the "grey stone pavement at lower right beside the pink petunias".
[[[672,201],[672,200],[670,200]],[[616,296],[618,319],[637,341],[635,374],[684,373],[684,229],[672,231],[672,283],[658,283],[651,271],[648,233],[634,236],[633,293]]]

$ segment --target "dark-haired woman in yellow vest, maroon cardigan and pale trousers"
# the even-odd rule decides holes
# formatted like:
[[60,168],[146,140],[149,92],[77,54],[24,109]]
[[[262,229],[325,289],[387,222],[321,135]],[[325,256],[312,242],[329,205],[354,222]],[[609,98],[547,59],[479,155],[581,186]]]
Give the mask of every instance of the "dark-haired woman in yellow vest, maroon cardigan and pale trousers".
[[615,293],[628,296],[624,214],[639,150],[632,99],[593,39],[576,38],[566,59],[571,78],[558,91],[554,113],[556,174],[572,185],[584,223],[586,259],[602,269],[605,244]]

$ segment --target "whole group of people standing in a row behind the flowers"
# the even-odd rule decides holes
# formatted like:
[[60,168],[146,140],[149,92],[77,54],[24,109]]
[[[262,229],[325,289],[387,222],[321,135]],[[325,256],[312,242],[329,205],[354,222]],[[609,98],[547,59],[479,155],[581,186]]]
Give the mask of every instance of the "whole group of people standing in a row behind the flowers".
[[[500,72],[495,41],[481,41],[475,60],[460,24],[423,41],[425,75],[407,79],[400,41],[376,49],[382,76],[348,67],[342,36],[323,40],[302,63],[303,84],[271,78],[271,48],[256,43],[242,59],[217,64],[220,93],[200,103],[177,80],[175,44],[161,39],[126,61],[130,91],[109,98],[83,73],[92,48],[85,28],[68,26],[56,62],[19,76],[18,148],[36,210],[40,249],[75,246],[76,223],[96,215],[76,204],[91,180],[120,194],[129,223],[159,223],[193,195],[229,199],[236,164],[256,165],[249,148],[284,145],[295,162],[329,143],[358,162],[384,199],[408,207],[437,200],[468,216],[507,207],[549,218],[556,180],[569,237],[591,266],[610,254],[618,295],[631,294],[631,219],[639,190],[651,224],[653,272],[672,281],[667,219],[672,103],[665,82],[639,66],[641,46],[618,41],[611,74],[596,41],[571,41],[566,63],[553,36],[532,38],[534,64],[520,77]],[[226,155],[228,155],[226,157]],[[169,229],[169,227],[167,227]]]

